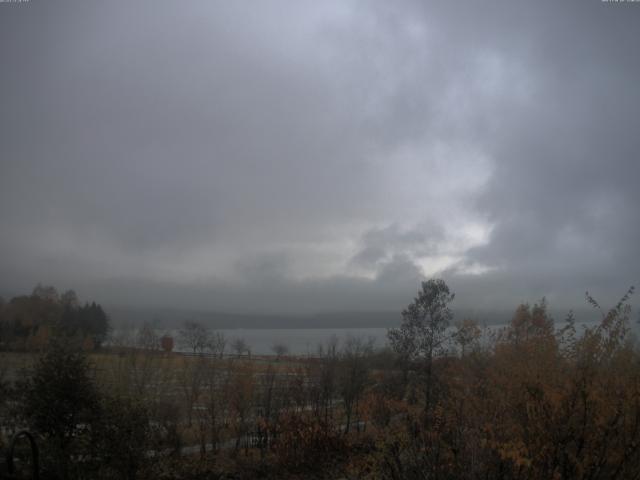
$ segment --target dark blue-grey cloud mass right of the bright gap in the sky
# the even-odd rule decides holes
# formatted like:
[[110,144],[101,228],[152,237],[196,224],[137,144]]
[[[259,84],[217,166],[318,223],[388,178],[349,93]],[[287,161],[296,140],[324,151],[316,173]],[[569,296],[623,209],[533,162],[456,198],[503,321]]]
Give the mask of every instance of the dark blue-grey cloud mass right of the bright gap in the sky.
[[471,288],[528,288],[556,302],[589,289],[611,300],[640,277],[640,61],[631,47],[640,11],[597,2],[549,11],[524,57],[535,103],[504,111],[498,141],[485,147],[496,168],[479,208],[495,228],[466,258],[498,269]]

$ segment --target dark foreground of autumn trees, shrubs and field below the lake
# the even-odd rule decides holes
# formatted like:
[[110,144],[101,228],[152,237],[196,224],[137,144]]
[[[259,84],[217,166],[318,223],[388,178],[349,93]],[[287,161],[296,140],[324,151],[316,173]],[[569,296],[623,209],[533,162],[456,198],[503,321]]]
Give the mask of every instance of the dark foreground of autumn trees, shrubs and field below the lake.
[[632,293],[590,328],[554,325],[542,301],[489,332],[454,323],[430,280],[389,351],[352,338],[314,358],[223,357],[193,324],[190,356],[148,331],[145,348],[92,351],[52,327],[38,360],[0,353],[0,444],[28,428],[63,479],[640,478]]

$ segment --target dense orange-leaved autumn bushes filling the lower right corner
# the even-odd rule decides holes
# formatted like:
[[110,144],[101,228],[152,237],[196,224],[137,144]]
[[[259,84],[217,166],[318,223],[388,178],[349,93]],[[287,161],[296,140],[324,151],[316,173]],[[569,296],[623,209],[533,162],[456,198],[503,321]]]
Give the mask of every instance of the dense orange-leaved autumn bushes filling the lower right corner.
[[582,332],[572,316],[555,328],[545,302],[521,305],[490,348],[434,362],[431,414],[391,423],[369,478],[640,478],[631,293]]

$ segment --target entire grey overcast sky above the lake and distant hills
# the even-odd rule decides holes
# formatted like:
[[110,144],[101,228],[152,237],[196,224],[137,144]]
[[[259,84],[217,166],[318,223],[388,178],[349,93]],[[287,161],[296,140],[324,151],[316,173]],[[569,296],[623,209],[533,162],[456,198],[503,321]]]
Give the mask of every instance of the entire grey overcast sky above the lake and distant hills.
[[640,279],[640,3],[0,3],[0,292],[581,306]]

